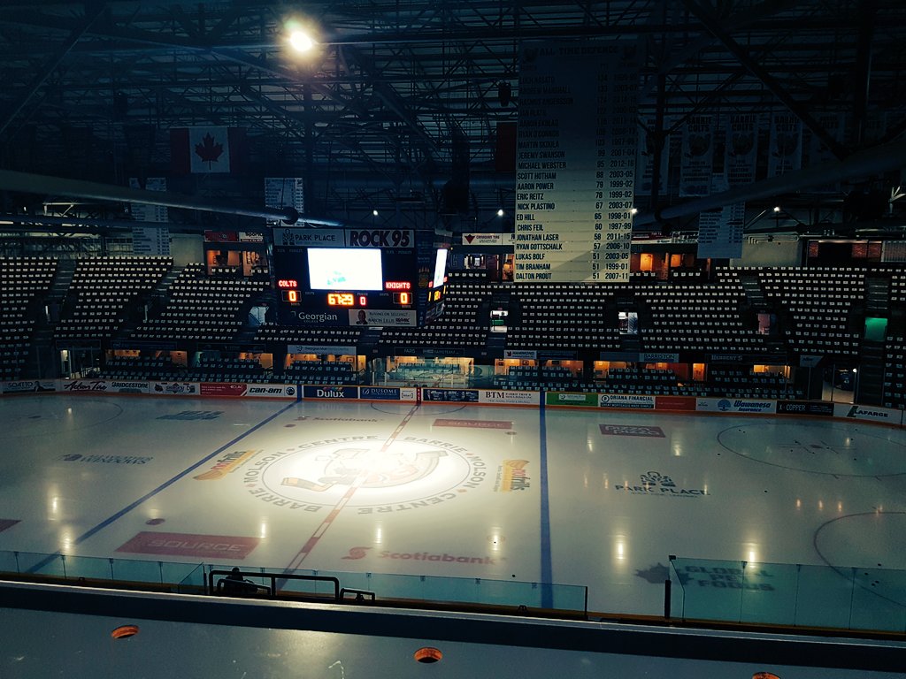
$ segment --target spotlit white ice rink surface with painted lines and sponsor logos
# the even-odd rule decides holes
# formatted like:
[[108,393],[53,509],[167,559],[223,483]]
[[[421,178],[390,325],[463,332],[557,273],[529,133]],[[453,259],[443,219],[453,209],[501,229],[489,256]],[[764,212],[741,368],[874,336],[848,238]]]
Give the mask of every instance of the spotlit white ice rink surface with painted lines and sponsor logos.
[[[398,402],[0,399],[0,550],[586,585],[668,555],[906,570],[906,431]],[[903,602],[906,603],[906,602]]]

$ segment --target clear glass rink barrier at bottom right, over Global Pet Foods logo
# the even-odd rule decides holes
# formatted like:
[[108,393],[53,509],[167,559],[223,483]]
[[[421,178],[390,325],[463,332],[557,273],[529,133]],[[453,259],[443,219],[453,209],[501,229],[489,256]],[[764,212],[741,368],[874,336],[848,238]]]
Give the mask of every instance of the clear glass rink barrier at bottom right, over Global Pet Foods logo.
[[906,632],[906,571],[670,559],[671,617]]

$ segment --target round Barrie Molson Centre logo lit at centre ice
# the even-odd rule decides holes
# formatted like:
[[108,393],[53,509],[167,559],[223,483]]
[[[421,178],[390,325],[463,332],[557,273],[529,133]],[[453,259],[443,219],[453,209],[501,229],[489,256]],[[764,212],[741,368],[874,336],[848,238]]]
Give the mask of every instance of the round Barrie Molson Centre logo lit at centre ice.
[[338,436],[265,454],[244,483],[262,502],[303,512],[343,503],[359,514],[405,512],[455,500],[487,481],[487,464],[466,448],[405,436]]

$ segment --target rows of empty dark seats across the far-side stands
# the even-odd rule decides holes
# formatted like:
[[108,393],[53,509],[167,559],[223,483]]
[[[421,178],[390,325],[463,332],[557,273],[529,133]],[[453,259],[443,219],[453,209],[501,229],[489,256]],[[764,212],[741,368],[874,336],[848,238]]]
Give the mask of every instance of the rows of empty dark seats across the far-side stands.
[[[439,320],[425,328],[384,329],[284,327],[273,322],[252,327],[249,309],[272,294],[265,278],[243,278],[234,272],[207,276],[200,263],[170,273],[171,258],[140,256],[87,257],[77,260],[74,270],[70,264],[72,282],[56,320],[45,304],[53,283],[64,280],[62,269],[49,257],[0,260],[3,379],[29,377],[26,359],[37,341],[35,330],[44,328],[53,332],[53,349],[86,345],[112,349],[115,343],[117,349],[141,352],[132,359],[107,359],[101,374],[111,378],[356,384],[371,378],[371,373],[335,357],[358,354],[368,359],[418,357],[415,363],[394,361],[395,367],[380,378],[421,384],[426,378],[444,379],[445,371],[460,370],[426,363],[426,358],[471,357],[476,365],[487,366],[506,350],[534,350],[542,357],[545,352],[571,352],[585,368],[566,368],[558,361],[514,366],[488,378],[486,386],[803,397],[803,388],[794,387],[783,366],[795,370],[801,357],[814,356],[857,365],[867,342],[862,339],[863,322],[878,314],[877,309],[871,313],[868,309],[873,284],[884,291],[881,303],[890,310],[884,314],[888,338],[877,349],[883,357],[882,405],[906,406],[906,327],[901,311],[906,270],[899,268],[718,268],[710,281],[700,272],[676,272],[669,281],[648,272],[633,273],[629,283],[602,285],[498,283],[489,282],[484,272],[453,272]],[[491,331],[489,314],[497,309],[507,311],[502,320],[505,333]],[[626,332],[625,327],[621,331],[620,311],[637,314],[637,333]],[[776,319],[770,332],[758,330],[759,313]],[[213,351],[220,358],[189,361],[188,367],[149,358],[169,350],[206,352],[202,355]],[[295,360],[275,370],[263,368],[255,359],[238,358],[240,353],[272,353],[280,366],[279,359],[288,350],[332,356]],[[665,358],[595,372],[593,361],[602,354],[612,360],[620,354]],[[712,363],[710,357],[716,354],[734,355],[739,363]],[[641,367],[652,362],[705,363],[707,378],[692,380],[669,369]],[[753,371],[759,363],[776,368]]]

